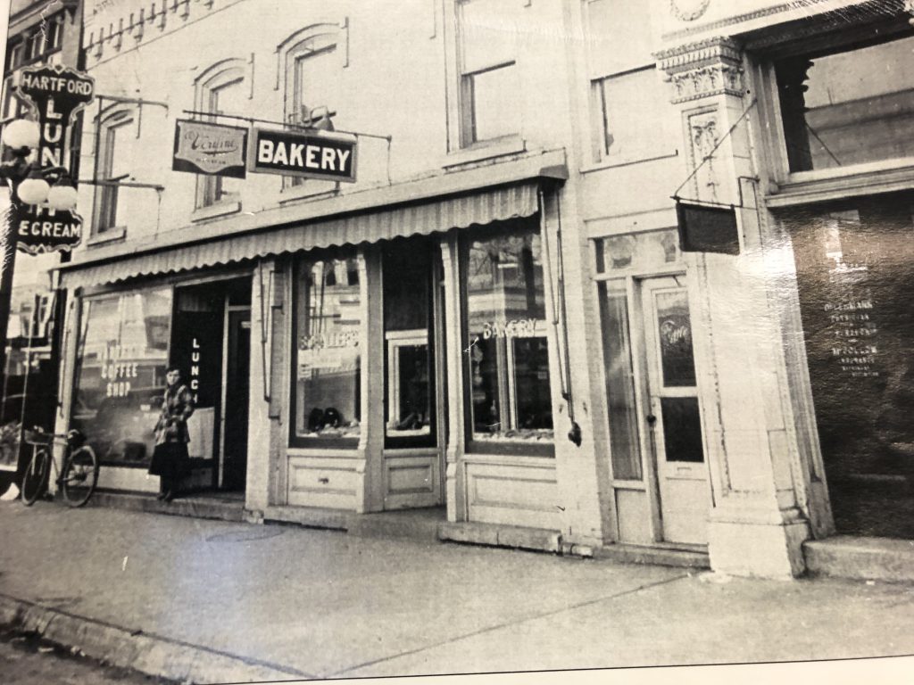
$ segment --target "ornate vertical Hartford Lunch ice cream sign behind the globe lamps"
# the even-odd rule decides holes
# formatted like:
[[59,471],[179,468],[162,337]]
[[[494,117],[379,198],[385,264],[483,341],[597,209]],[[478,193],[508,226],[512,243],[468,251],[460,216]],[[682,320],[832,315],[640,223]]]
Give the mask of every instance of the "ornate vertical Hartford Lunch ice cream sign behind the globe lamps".
[[[76,112],[94,99],[95,80],[61,65],[26,67],[19,72],[17,90],[37,111],[41,132],[37,163],[66,167],[70,125]],[[16,246],[33,255],[69,251],[82,239],[82,218],[73,212],[20,205],[16,238]]]

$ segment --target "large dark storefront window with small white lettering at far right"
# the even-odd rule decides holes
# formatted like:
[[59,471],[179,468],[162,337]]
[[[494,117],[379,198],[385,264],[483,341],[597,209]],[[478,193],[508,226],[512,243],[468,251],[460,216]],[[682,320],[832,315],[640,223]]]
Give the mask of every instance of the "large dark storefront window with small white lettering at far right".
[[914,538],[914,194],[783,221],[835,526]]

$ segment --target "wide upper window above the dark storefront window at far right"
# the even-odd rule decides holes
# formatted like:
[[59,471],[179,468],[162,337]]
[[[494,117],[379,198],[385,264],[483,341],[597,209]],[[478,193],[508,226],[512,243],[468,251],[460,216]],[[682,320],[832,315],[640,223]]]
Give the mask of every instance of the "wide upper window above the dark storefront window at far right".
[[914,36],[775,61],[791,172],[914,157]]

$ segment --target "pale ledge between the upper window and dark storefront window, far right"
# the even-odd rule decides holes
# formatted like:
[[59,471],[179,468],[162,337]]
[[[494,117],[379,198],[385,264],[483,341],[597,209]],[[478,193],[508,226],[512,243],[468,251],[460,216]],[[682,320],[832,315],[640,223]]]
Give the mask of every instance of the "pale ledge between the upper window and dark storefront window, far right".
[[907,158],[791,174],[789,181],[765,196],[765,203],[775,209],[911,188],[914,188],[914,159]]

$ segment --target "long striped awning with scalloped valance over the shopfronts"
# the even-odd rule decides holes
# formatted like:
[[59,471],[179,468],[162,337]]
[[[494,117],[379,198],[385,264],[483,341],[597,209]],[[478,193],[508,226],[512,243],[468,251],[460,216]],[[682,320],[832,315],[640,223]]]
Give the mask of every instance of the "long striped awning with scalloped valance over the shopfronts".
[[[554,175],[549,177],[560,178],[554,168],[550,169],[550,174]],[[236,230],[220,237],[201,236],[194,241],[175,241],[174,245],[159,241],[92,249],[84,256],[80,255],[79,260],[58,267],[60,285],[68,289],[102,285],[244,259],[428,235],[451,228],[533,216],[538,211],[537,191],[543,177],[534,175],[520,182],[464,191],[461,195],[430,197],[420,202],[376,205],[343,216]]]

